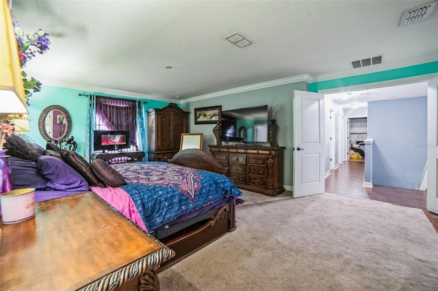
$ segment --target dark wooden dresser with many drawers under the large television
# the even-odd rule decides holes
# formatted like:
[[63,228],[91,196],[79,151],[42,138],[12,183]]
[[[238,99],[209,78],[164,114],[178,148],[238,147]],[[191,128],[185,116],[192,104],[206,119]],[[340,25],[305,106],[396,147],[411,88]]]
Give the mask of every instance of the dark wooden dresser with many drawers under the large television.
[[239,189],[268,196],[285,191],[283,187],[284,147],[209,146],[228,176]]

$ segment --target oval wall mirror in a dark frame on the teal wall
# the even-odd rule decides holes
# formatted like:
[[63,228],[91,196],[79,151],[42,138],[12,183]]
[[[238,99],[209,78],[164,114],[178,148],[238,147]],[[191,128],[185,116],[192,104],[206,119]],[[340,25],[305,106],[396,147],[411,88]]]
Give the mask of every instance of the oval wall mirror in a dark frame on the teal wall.
[[71,117],[64,107],[52,105],[44,109],[38,120],[38,128],[44,140],[67,139],[71,131]]

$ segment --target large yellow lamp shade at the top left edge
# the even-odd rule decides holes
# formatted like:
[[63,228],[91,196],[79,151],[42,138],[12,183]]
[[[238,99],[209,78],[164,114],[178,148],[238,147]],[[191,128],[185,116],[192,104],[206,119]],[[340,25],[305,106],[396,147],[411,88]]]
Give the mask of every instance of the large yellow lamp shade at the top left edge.
[[0,112],[27,113],[14,25],[5,0],[0,0]]

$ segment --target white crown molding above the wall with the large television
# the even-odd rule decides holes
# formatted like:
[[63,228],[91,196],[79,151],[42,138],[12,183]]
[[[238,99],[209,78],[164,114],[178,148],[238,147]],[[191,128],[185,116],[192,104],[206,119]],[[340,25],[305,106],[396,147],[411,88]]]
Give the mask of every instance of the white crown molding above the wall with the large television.
[[263,83],[257,83],[257,84],[253,84],[253,85],[247,85],[247,86],[237,87],[237,88],[228,89],[228,90],[224,90],[224,91],[214,92],[214,93],[210,93],[210,94],[195,96],[192,98],[187,98],[187,99],[181,100],[181,103],[194,102],[194,101],[205,100],[205,99],[215,98],[215,97],[224,96],[224,95],[236,94],[236,93],[247,92],[247,91],[251,91],[251,90],[255,90],[255,89],[263,89],[263,88],[285,85],[285,84],[290,84],[290,83],[302,82],[302,81],[309,82],[310,79],[311,79],[311,76],[309,74],[302,74],[302,75],[296,76],[296,77],[277,79],[274,81],[267,81],[267,82],[263,82]]

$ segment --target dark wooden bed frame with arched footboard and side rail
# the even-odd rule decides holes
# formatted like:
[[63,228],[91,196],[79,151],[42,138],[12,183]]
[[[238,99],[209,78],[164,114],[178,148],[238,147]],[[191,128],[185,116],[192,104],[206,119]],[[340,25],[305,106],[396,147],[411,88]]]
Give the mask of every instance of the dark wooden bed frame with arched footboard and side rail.
[[[216,158],[202,150],[186,149],[177,152],[168,163],[214,171],[218,174],[227,174],[228,168],[222,167]],[[158,271],[162,271],[177,262],[187,258],[192,253],[214,242],[224,234],[235,230],[235,203],[227,204],[218,209],[214,217],[187,227],[185,230],[168,238],[160,239],[164,245],[175,251],[175,257],[164,262]]]

